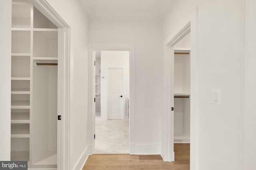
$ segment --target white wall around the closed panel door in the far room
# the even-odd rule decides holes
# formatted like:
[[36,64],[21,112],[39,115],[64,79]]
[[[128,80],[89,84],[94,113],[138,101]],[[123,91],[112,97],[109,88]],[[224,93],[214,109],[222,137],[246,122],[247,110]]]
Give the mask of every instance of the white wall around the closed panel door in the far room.
[[[101,51],[101,114],[108,119],[108,68],[123,68],[123,99],[124,119],[128,119],[125,113],[126,98],[129,97],[129,51]],[[104,77],[104,78],[102,78]]]

